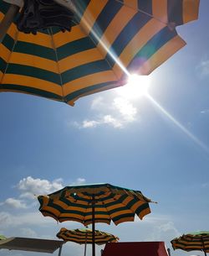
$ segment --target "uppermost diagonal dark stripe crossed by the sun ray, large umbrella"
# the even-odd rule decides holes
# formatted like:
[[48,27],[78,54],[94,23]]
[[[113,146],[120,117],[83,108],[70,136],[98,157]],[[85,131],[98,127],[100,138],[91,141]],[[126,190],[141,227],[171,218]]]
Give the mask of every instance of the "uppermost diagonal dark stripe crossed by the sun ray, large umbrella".
[[115,0],[110,0],[101,13],[99,13],[99,17],[96,19],[92,30],[96,33],[98,39],[94,38],[94,34],[90,33],[89,36],[94,40],[94,44],[99,43],[99,39],[104,34],[104,31],[108,28],[115,15],[120,11],[123,5],[121,3],[116,2]]

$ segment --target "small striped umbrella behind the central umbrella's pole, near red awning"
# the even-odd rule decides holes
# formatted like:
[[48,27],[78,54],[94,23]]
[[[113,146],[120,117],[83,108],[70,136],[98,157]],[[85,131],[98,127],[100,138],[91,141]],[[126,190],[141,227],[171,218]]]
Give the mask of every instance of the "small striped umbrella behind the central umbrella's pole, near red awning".
[[[88,228],[66,229],[62,227],[57,233],[57,237],[63,239],[65,242],[71,241],[79,244],[85,244],[84,256],[86,254],[86,244],[93,242],[93,232]],[[95,230],[94,242],[98,245],[104,243],[116,243],[119,238],[108,232]]]

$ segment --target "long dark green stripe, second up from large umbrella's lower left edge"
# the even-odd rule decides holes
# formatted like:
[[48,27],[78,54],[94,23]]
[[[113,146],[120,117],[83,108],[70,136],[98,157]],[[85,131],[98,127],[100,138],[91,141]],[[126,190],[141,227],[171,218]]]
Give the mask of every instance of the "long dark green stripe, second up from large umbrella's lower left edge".
[[[45,81],[51,81],[60,86],[60,76],[54,72],[44,71],[37,67],[29,65],[18,65],[18,64],[9,64],[7,74],[17,74],[21,76],[31,76]],[[43,81],[44,83],[44,81]],[[50,91],[50,88],[48,88]]]

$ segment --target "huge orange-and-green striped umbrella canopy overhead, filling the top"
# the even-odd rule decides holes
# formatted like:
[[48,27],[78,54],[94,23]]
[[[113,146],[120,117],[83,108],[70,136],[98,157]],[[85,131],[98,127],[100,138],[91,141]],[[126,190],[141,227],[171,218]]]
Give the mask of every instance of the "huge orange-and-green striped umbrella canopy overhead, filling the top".
[[[74,105],[125,85],[130,74],[150,74],[186,44],[176,26],[198,18],[199,8],[199,0],[54,1],[73,7],[72,29],[24,34],[14,20],[0,44],[0,91]],[[0,21],[8,6],[0,0]]]

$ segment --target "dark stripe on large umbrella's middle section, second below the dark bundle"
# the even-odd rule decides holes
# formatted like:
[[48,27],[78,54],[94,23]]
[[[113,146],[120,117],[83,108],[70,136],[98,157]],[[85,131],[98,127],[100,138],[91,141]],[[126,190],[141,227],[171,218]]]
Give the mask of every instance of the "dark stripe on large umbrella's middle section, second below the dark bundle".
[[89,37],[85,37],[83,39],[78,39],[70,42],[69,44],[64,44],[57,49],[58,59],[62,60],[70,55],[77,54],[79,52],[93,49],[95,48],[95,44],[92,42]]

